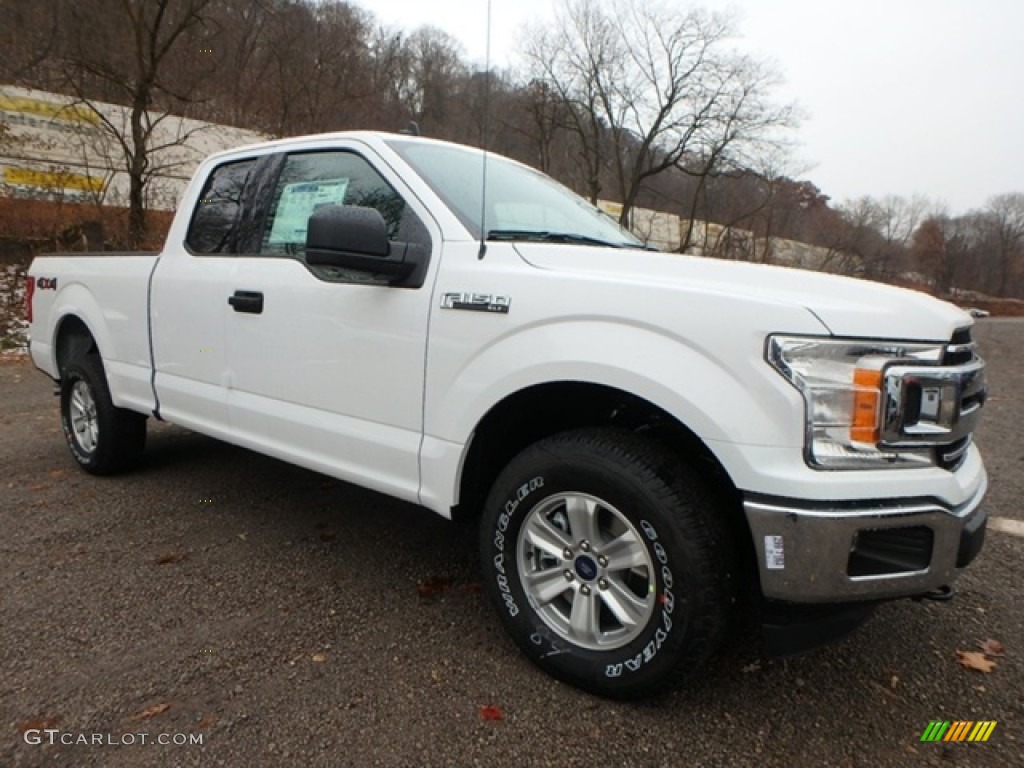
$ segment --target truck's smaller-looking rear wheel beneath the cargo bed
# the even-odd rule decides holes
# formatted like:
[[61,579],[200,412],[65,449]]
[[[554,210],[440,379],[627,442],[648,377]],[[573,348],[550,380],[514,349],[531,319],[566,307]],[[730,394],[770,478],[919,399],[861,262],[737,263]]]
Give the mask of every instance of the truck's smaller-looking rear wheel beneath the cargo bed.
[[145,447],[145,417],[114,406],[97,354],[77,357],[62,370],[60,425],[71,455],[94,475],[135,466]]

